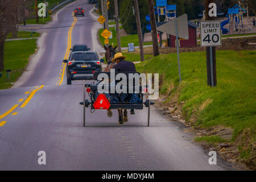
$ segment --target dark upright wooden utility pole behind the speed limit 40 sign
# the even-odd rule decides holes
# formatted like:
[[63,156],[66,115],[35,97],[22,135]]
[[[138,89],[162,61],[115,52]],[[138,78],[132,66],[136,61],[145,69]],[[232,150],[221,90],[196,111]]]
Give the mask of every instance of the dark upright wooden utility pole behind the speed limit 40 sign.
[[[214,16],[209,16],[209,3],[214,3],[214,0],[205,0],[205,20],[214,20]],[[207,84],[211,86],[217,85],[217,77],[216,77],[216,48],[215,47],[207,47]],[[211,74],[212,64],[213,70]],[[213,81],[213,85],[212,85]]]

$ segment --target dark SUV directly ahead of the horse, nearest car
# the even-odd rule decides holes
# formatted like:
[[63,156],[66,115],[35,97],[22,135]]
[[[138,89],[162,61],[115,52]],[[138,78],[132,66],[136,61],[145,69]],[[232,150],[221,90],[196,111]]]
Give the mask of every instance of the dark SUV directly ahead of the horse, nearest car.
[[71,85],[72,80],[91,80],[94,72],[101,72],[101,63],[96,52],[76,51],[72,52],[67,63],[67,84]]

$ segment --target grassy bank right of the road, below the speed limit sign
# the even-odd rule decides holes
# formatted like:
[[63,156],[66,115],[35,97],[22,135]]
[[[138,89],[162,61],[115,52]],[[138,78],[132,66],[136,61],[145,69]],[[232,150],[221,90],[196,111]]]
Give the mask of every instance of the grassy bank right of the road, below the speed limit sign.
[[[194,120],[192,125],[203,128],[222,125],[234,129],[231,142],[245,139],[246,146],[242,143],[240,150],[249,158],[255,155],[250,153],[250,144],[256,140],[256,51],[217,51],[216,56],[216,88],[207,86],[205,52],[180,53],[181,85],[175,53],[136,66],[139,72],[159,73],[160,94],[168,100],[177,94],[186,122]],[[243,131],[249,131],[246,138],[241,137]],[[216,137],[205,140],[221,141]]]

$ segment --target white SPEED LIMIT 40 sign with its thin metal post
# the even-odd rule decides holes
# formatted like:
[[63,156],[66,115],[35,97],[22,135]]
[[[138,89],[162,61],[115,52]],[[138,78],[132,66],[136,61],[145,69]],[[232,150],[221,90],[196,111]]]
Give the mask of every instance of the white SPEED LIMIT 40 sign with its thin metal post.
[[[221,25],[219,20],[209,20],[200,22],[200,44],[202,47],[209,47],[210,51],[210,85],[214,87],[213,70],[213,47],[221,46]],[[215,66],[216,67],[216,66]],[[215,73],[216,74],[216,73]]]

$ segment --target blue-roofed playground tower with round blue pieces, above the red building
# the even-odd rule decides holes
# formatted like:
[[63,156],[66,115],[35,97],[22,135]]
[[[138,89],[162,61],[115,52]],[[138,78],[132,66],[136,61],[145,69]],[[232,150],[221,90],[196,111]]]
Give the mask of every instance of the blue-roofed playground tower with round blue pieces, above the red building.
[[[164,22],[168,22],[176,18],[176,5],[167,5],[167,0],[156,0],[155,9],[155,15],[158,15],[158,22],[160,15],[166,16]],[[150,15],[146,16],[146,20],[150,22]],[[147,24],[146,28],[147,30],[151,31],[151,24]]]

